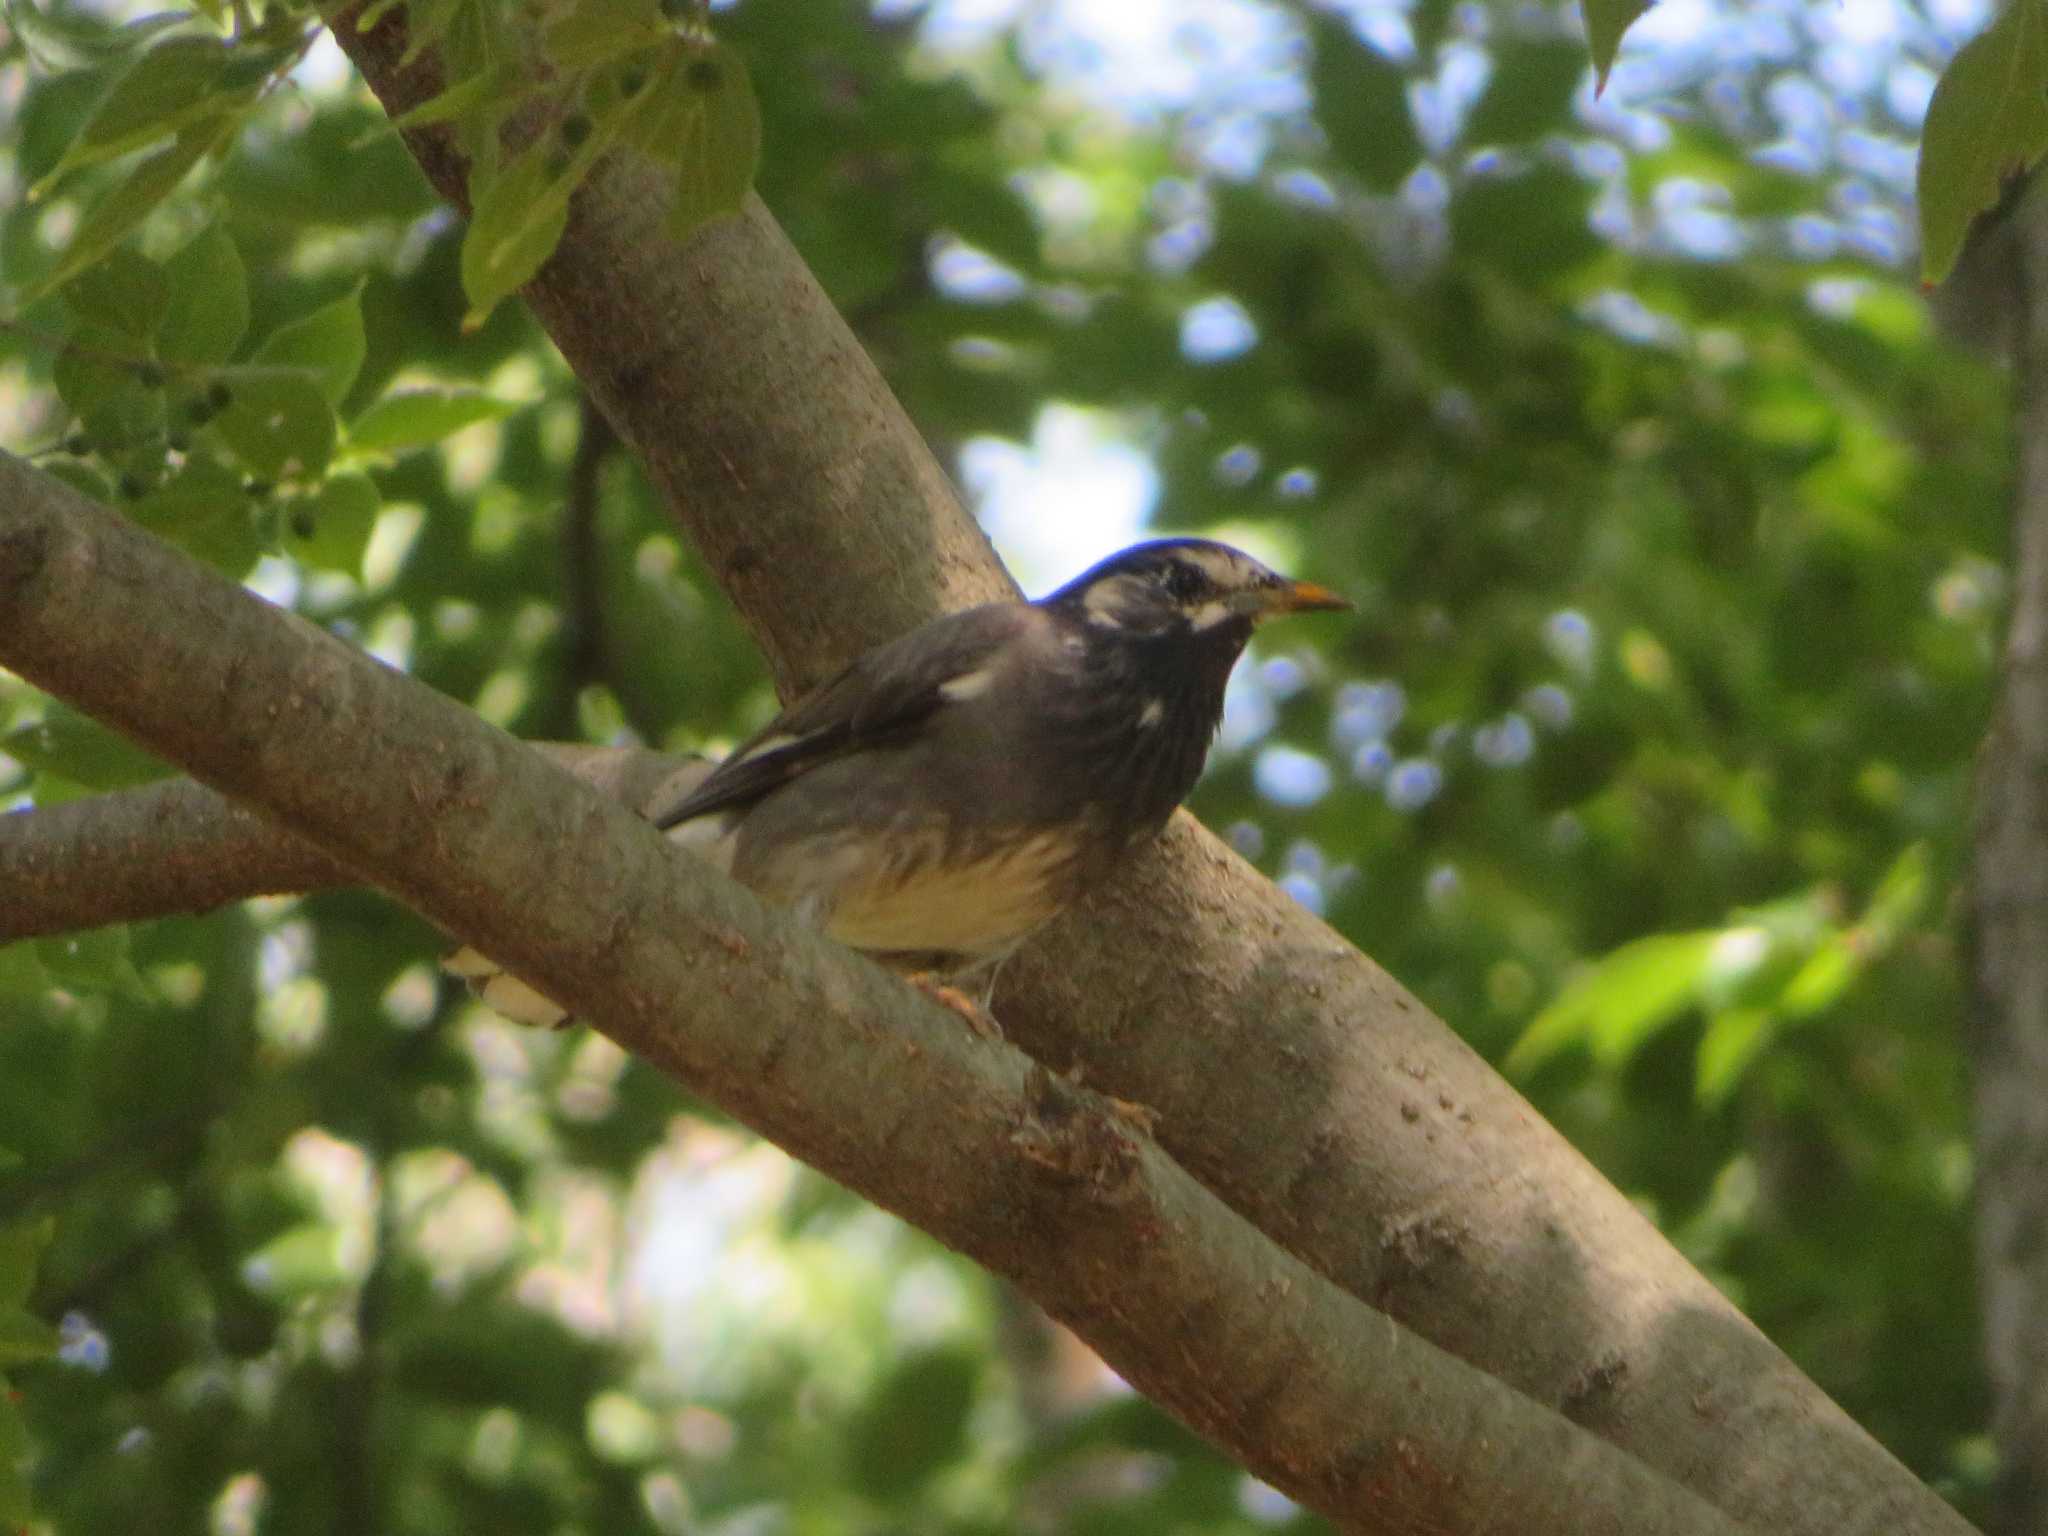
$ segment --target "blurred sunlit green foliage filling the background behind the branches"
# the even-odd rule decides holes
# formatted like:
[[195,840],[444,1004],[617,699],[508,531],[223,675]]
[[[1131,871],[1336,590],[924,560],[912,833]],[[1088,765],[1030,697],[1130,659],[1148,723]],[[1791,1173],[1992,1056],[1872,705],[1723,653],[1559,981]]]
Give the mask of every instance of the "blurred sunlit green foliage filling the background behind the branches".
[[[0,440],[512,731],[758,723],[719,592],[627,459],[571,489],[571,379],[311,16],[199,10],[6,10]],[[1632,43],[1595,102],[1542,8],[1190,0],[1194,88],[946,10],[715,14],[760,193],[911,416],[967,453],[1087,412],[1159,526],[1360,600],[1241,668],[1196,809],[1978,1507],[1956,891],[2009,444],[1907,276],[1896,123],[1843,90],[1788,156],[1812,39]],[[160,772],[18,684],[0,733],[16,805]],[[332,893],[0,950],[0,1518],[20,1473],[51,1530],[1313,1526],[438,948]]]

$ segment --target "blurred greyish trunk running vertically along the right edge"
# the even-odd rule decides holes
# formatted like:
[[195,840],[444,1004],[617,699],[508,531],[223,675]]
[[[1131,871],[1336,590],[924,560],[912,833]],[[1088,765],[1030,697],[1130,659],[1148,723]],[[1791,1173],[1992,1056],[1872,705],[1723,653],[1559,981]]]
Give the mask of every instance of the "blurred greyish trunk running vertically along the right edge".
[[2017,211],[2013,608],[1976,780],[1976,1262],[2001,1522],[2048,1532],[2048,197]]

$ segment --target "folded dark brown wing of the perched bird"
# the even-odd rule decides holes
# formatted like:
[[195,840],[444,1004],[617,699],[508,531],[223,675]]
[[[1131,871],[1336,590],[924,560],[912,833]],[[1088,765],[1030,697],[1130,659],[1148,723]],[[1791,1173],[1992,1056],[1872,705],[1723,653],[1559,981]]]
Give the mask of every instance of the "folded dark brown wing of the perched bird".
[[1004,649],[1042,623],[1044,614],[1026,602],[991,602],[879,645],[741,741],[653,823],[668,829],[752,805],[819,764],[901,739],[940,709],[979,696]]

